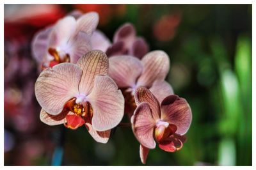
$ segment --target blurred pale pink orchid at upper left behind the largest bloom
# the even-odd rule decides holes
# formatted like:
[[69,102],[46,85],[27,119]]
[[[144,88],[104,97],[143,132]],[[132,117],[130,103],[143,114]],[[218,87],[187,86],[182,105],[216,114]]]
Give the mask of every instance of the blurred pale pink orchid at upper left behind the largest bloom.
[[78,19],[71,15],[34,36],[32,52],[36,61],[42,64],[42,70],[58,63],[76,63],[83,54],[92,50],[90,37],[97,27],[99,15],[89,12]]

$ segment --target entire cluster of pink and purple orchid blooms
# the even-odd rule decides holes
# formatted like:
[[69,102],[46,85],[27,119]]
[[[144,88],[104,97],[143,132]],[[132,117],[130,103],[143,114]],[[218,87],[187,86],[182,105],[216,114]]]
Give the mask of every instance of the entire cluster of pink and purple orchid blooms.
[[40,120],[71,129],[84,125],[95,141],[107,143],[111,129],[127,116],[143,164],[156,143],[164,151],[180,150],[192,113],[164,81],[168,54],[148,52],[132,24],[121,26],[111,43],[96,29],[98,22],[95,12],[72,12],[35,35]]

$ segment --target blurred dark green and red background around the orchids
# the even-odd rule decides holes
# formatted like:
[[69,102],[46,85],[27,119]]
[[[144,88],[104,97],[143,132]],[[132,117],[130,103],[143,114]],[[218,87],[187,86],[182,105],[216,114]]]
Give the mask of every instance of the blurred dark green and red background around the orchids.
[[31,40],[74,9],[98,12],[98,29],[109,40],[131,22],[150,50],[170,56],[166,80],[188,100],[193,121],[182,150],[156,147],[147,166],[252,165],[251,4],[4,4],[5,166],[143,165],[129,127],[100,144],[84,127],[50,127],[39,119]]

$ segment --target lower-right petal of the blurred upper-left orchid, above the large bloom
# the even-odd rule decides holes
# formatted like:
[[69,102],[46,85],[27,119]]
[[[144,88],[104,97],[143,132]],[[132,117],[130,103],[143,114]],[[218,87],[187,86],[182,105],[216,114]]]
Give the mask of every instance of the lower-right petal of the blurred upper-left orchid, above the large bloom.
[[79,32],[76,36],[70,38],[67,47],[67,52],[70,54],[70,63],[77,63],[79,58],[92,50],[90,36],[84,32]]

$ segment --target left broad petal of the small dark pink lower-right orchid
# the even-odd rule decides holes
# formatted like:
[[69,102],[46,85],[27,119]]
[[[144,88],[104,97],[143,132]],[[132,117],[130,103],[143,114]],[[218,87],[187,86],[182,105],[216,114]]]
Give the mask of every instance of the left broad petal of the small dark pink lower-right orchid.
[[134,135],[140,144],[150,149],[155,148],[156,142],[154,141],[153,133],[156,121],[152,117],[152,112],[147,102],[142,102],[138,105],[134,115],[132,115],[131,123]]

